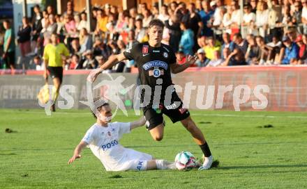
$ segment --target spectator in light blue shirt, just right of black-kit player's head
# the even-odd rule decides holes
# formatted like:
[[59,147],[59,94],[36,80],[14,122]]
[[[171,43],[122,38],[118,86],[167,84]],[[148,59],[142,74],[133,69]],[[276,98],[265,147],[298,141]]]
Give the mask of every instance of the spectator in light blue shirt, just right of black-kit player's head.
[[194,33],[190,28],[188,28],[186,22],[181,22],[180,28],[183,33],[179,42],[179,49],[182,49],[186,55],[193,55]]

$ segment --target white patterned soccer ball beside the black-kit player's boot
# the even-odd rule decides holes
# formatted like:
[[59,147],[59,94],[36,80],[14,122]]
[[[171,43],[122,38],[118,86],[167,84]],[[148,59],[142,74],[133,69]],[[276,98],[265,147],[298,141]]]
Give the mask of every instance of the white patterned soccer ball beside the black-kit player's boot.
[[175,165],[178,170],[188,170],[197,166],[195,156],[188,151],[181,151],[175,157]]

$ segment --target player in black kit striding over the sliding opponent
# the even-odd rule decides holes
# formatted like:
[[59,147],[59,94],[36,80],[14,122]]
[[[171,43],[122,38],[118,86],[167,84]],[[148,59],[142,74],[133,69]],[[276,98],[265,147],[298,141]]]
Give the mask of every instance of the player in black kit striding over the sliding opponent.
[[180,121],[191,133],[204,154],[204,163],[199,170],[208,170],[213,163],[208,143],[204,139],[202,131],[191,119],[189,111],[182,107],[182,101],[174,90],[171,78],[171,72],[173,74],[183,72],[195,63],[197,57],[188,56],[185,64],[177,64],[172,48],[161,43],[163,27],[163,22],[159,19],[153,19],[148,27],[149,42],[135,44],[128,51],[110,56],[98,71],[88,77],[88,80],[95,81],[103,70],[113,67],[123,60],[135,60],[140,73],[141,85],[147,85],[151,88],[150,91],[142,90],[141,102],[146,104],[143,113],[147,120],[147,129],[153,140],[163,139],[165,126],[163,114],[170,117],[173,123]]

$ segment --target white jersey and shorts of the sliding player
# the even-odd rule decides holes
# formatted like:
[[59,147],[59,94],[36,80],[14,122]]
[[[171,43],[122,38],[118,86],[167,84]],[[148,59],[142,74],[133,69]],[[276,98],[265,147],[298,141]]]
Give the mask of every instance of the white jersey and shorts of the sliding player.
[[107,126],[93,124],[82,141],[89,144],[93,154],[100,159],[107,171],[144,170],[152,157],[119,144],[124,133],[130,133],[130,123],[113,122]]

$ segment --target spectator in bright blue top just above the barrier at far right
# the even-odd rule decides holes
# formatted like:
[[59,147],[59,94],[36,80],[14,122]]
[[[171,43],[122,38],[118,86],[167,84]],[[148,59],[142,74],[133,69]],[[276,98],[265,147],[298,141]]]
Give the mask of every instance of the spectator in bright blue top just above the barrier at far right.
[[294,64],[299,57],[299,46],[292,42],[287,35],[283,36],[283,44],[285,45],[285,54],[281,63],[283,65]]

